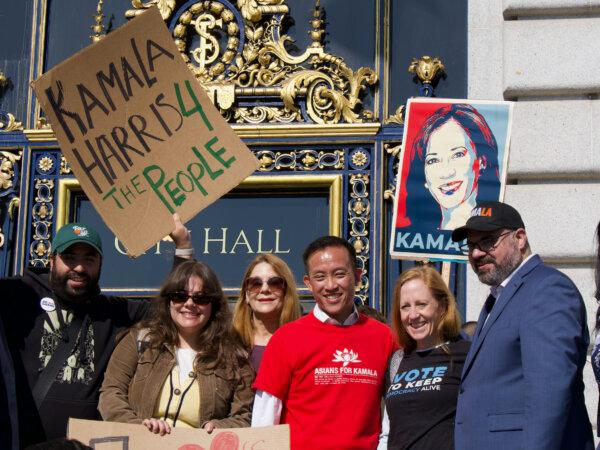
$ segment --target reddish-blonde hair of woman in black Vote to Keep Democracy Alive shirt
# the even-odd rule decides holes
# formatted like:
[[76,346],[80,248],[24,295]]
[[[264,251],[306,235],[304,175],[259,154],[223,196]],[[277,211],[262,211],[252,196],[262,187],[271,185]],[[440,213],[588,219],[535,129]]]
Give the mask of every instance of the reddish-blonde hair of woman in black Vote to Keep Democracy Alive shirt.
[[444,283],[442,276],[432,267],[420,266],[406,270],[400,274],[396,285],[394,286],[394,302],[392,306],[392,329],[398,336],[398,343],[405,352],[412,352],[416,346],[416,341],[410,337],[400,317],[400,290],[402,286],[411,280],[423,280],[425,286],[431,291],[439,305],[444,308],[444,313],[437,325],[437,333],[442,341],[456,339],[460,333],[460,315],[456,308],[454,295]]

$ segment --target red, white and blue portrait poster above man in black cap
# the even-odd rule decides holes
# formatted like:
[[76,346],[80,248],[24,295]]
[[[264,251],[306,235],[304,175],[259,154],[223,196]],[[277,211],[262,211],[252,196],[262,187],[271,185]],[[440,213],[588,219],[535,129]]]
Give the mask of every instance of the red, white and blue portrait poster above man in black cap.
[[452,230],[477,202],[504,198],[513,103],[408,100],[390,253],[465,261]]

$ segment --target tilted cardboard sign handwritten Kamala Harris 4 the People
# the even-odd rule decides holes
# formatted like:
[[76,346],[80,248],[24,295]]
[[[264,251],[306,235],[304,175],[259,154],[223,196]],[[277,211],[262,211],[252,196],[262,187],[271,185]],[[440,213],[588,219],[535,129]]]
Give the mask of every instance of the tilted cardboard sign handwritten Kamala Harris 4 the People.
[[33,88],[62,152],[132,256],[258,168],[189,71],[157,8]]

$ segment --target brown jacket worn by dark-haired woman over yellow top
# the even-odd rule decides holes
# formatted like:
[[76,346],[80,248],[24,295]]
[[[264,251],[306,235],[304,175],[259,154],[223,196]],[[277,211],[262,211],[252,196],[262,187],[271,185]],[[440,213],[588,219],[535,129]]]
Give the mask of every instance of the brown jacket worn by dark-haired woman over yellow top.
[[[176,364],[173,349],[142,346],[144,331],[132,330],[118,343],[108,363],[100,389],[98,410],[104,420],[142,423],[151,418],[161,389]],[[200,426],[212,421],[217,428],[250,426],[254,372],[242,366],[233,375],[223,369],[204,370],[200,387]]]

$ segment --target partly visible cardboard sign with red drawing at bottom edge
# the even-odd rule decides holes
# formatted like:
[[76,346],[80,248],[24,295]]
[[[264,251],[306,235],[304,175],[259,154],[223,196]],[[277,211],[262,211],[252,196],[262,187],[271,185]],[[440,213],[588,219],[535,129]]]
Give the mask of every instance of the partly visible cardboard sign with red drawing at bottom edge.
[[223,428],[211,434],[191,428],[172,428],[165,436],[143,425],[69,419],[69,439],[95,450],[286,450],[289,425],[261,428]]

